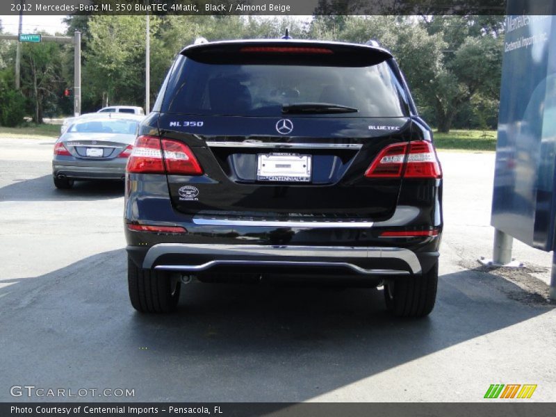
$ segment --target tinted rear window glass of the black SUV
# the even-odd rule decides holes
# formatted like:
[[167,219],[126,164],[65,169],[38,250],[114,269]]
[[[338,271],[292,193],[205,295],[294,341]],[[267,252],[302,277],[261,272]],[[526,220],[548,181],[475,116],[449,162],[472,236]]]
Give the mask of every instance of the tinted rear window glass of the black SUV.
[[162,111],[281,117],[286,104],[327,103],[358,109],[333,117],[403,117],[407,115],[403,96],[386,61],[364,67],[242,65],[200,63],[180,56]]

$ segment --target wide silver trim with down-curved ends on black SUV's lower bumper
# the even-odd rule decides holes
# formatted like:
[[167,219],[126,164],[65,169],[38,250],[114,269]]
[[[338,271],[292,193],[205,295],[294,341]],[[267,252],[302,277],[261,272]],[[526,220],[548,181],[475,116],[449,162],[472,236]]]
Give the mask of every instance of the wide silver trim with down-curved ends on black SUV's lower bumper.
[[[183,255],[211,255],[225,258],[225,256],[276,256],[286,257],[288,262],[297,262],[291,258],[328,258],[328,259],[400,259],[407,263],[414,274],[421,272],[419,259],[414,252],[400,247],[346,247],[346,246],[272,246],[272,245],[199,245],[187,243],[160,243],[149,249],[142,267],[153,268],[156,259],[165,254]],[[227,261],[226,259],[215,259],[215,261]],[[231,261],[231,260],[229,260]],[[256,261],[250,259],[246,261]],[[261,262],[261,261],[256,261]],[[274,262],[274,260],[272,260]],[[283,262],[283,261],[277,261]],[[321,261],[316,261],[321,262]],[[325,261],[322,261],[325,262]],[[334,261],[326,261],[334,263]],[[188,265],[186,265],[188,266]],[[193,265],[199,266],[199,265]],[[359,268],[359,267],[358,267]]]

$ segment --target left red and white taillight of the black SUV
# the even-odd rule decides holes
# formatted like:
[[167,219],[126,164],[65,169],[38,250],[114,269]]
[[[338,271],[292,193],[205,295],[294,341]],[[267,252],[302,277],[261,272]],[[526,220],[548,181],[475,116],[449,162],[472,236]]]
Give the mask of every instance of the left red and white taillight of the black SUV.
[[201,175],[203,170],[191,149],[182,142],[139,136],[127,161],[127,172]]

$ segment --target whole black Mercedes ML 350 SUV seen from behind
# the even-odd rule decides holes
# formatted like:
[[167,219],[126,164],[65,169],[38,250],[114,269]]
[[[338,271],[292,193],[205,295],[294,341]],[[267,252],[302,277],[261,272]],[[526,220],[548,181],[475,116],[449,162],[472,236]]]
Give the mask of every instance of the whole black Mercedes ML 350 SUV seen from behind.
[[191,279],[384,285],[395,316],[434,307],[441,167],[375,42],[186,47],[126,171],[138,311],[172,311]]

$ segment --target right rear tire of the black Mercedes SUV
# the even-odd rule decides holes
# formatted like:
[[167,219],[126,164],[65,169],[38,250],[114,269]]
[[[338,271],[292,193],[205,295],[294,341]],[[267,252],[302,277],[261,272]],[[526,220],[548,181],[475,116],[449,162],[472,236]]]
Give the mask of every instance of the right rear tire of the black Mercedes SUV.
[[439,263],[436,261],[423,275],[384,284],[386,309],[396,317],[427,316],[434,309],[438,281]]

